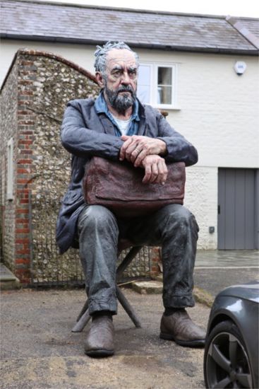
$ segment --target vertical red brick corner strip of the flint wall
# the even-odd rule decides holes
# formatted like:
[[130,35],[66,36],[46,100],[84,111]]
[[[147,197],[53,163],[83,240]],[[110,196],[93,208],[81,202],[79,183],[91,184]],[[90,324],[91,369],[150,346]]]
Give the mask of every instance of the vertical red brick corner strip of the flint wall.
[[34,102],[37,68],[33,59],[18,55],[18,153],[16,186],[16,275],[23,282],[30,281],[30,225],[29,193],[33,188],[33,141],[35,140],[35,113],[30,109]]

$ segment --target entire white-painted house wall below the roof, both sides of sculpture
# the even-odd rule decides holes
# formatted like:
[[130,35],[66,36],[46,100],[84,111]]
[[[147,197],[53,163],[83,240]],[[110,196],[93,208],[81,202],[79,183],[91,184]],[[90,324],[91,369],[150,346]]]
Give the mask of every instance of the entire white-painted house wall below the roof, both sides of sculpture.
[[[94,72],[95,46],[2,40],[1,82],[19,48],[60,54]],[[259,168],[258,58],[137,50],[140,62],[178,64],[178,105],[167,120],[198,149],[199,161],[187,169],[186,207],[200,225],[198,248],[217,248],[217,168]],[[247,64],[243,76],[236,61]],[[215,226],[210,234],[209,226]]]

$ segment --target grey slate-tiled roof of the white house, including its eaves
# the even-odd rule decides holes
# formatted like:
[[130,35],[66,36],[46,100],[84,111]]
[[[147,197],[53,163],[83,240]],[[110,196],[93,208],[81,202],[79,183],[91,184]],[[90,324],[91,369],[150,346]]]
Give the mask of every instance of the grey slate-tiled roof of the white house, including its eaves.
[[[245,31],[243,33],[242,31]],[[1,37],[97,45],[123,40],[158,50],[258,55],[259,19],[1,1]]]

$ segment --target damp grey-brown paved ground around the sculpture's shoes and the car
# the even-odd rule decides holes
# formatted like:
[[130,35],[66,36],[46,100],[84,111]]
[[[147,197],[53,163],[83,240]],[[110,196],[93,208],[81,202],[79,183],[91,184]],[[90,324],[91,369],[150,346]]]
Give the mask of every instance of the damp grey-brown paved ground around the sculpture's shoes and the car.
[[[258,278],[256,265],[258,252],[199,252],[195,284],[215,296],[225,286]],[[2,291],[1,388],[204,388],[203,349],[159,339],[161,295],[125,293],[143,327],[136,329],[120,308],[114,318],[116,354],[91,359],[83,353],[87,329],[71,332],[83,289]],[[198,303],[189,313],[206,327],[210,308]]]

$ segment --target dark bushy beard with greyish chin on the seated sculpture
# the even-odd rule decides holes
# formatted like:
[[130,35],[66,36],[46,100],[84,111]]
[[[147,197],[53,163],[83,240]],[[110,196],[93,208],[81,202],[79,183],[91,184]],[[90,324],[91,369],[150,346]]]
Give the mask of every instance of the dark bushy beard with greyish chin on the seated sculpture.
[[[120,93],[124,91],[130,92],[130,95],[128,93]],[[132,107],[136,99],[136,93],[130,85],[120,86],[116,91],[112,91],[105,85],[104,92],[112,108],[121,114],[124,114],[128,108]]]

